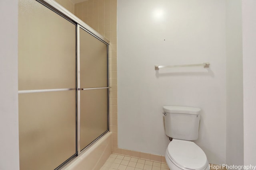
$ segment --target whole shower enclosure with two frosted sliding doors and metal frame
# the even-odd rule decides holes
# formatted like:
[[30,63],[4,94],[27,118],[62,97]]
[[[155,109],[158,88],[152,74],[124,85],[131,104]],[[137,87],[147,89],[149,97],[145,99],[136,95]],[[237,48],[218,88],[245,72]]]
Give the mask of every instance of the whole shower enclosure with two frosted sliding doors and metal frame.
[[60,169],[109,129],[109,42],[47,1],[19,1],[20,170]]

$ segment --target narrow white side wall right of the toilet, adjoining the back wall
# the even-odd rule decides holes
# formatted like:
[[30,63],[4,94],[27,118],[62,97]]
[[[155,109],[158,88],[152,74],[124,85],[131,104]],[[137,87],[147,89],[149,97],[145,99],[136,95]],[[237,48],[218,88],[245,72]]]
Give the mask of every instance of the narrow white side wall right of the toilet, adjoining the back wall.
[[226,0],[226,164],[244,164],[242,1]]

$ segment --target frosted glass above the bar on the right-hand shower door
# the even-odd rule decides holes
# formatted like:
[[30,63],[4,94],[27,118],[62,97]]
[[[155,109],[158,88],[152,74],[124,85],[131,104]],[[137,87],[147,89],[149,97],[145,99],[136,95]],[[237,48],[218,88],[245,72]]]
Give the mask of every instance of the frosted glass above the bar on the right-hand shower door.
[[107,45],[80,28],[80,86],[107,86]]

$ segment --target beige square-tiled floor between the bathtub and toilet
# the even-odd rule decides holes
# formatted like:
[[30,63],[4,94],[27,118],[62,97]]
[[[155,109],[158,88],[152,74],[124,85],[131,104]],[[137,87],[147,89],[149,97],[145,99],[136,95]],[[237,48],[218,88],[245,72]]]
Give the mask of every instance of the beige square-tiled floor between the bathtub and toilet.
[[169,170],[168,165],[160,162],[111,154],[100,170]]

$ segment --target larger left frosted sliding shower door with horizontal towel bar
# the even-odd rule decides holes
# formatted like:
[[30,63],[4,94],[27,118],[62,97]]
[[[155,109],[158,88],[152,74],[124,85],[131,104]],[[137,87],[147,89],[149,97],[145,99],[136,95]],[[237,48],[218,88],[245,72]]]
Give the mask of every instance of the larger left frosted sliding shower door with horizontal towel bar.
[[76,154],[76,25],[19,1],[20,170],[53,170]]

